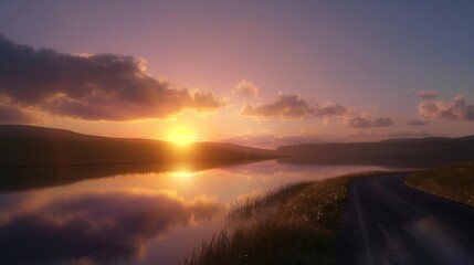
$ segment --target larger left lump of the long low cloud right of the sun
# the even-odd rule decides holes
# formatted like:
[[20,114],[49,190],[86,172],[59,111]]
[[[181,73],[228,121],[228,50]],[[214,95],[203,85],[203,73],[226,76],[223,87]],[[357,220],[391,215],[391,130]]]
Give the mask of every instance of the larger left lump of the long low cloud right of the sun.
[[297,95],[280,94],[278,99],[274,103],[261,104],[255,107],[246,104],[241,114],[256,118],[295,119],[314,114],[314,109]]

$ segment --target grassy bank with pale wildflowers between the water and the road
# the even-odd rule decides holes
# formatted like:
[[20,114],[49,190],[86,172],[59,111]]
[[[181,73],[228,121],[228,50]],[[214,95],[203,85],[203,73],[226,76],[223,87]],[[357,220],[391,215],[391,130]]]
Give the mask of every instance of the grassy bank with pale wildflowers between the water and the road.
[[236,202],[228,215],[233,229],[204,242],[185,264],[337,264],[347,187],[375,173],[294,183]]

